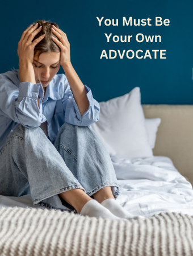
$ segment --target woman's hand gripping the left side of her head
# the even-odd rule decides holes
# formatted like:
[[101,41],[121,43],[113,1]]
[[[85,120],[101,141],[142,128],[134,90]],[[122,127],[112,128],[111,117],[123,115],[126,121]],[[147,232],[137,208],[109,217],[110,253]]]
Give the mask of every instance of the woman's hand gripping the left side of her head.
[[33,63],[34,48],[45,36],[45,34],[39,36],[32,43],[33,38],[41,31],[41,26],[37,28],[37,25],[38,23],[35,26],[31,25],[22,33],[22,37],[18,43],[19,63]]

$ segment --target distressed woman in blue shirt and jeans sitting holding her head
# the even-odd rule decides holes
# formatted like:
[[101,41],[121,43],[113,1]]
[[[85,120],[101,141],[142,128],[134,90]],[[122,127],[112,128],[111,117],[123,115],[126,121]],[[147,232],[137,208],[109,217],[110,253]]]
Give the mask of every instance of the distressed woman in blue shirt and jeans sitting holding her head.
[[[18,43],[19,69],[0,75],[0,195],[90,217],[131,218],[116,198],[110,155],[91,124],[99,103],[70,62],[56,23],[37,20]],[[60,65],[64,74],[57,74]]]

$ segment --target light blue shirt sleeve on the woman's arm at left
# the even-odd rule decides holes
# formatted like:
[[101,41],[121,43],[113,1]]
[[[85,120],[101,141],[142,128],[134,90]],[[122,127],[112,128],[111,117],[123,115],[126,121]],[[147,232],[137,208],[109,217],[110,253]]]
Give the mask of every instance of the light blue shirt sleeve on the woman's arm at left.
[[[0,108],[5,116],[27,128],[38,127],[46,118],[42,113],[43,88],[32,82],[20,82],[19,88],[11,81],[0,79]],[[40,97],[37,105],[37,97]]]

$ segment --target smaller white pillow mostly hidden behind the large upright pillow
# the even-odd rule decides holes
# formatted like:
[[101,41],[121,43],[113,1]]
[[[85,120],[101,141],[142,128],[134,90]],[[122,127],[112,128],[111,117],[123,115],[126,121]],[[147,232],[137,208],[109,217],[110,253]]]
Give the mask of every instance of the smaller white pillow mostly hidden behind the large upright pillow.
[[145,127],[148,132],[148,141],[151,148],[155,147],[156,144],[156,134],[158,126],[161,123],[161,118],[145,118]]

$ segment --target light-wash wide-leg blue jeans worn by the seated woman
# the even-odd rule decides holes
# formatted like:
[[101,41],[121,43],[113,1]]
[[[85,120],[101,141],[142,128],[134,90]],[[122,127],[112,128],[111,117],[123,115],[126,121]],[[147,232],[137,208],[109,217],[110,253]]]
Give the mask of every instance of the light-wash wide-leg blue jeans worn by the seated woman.
[[33,205],[77,210],[58,196],[80,188],[92,198],[110,186],[119,195],[110,155],[91,126],[64,123],[54,144],[40,127],[19,124],[0,152],[0,195],[31,195]]

